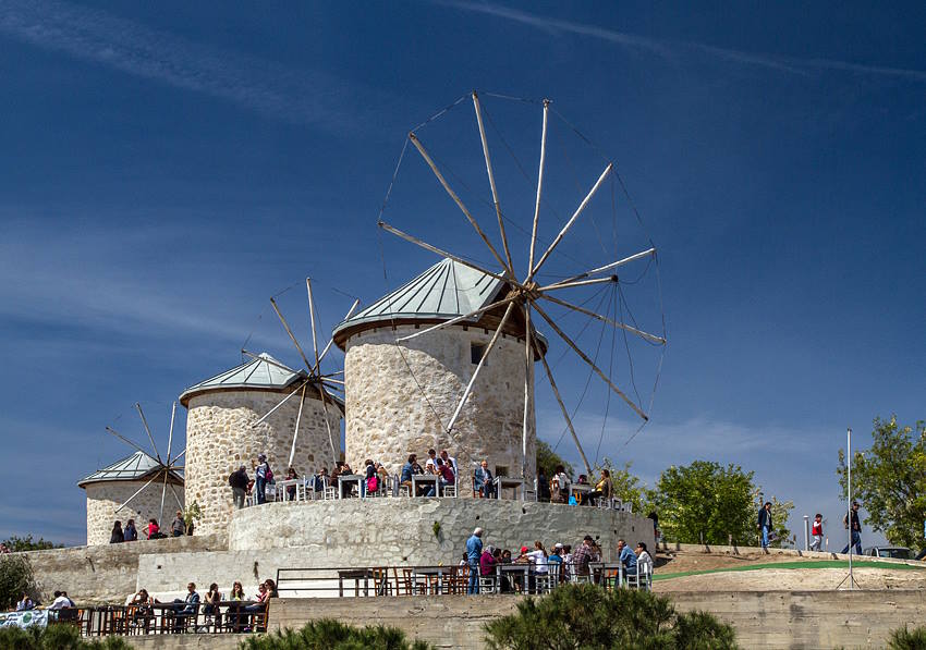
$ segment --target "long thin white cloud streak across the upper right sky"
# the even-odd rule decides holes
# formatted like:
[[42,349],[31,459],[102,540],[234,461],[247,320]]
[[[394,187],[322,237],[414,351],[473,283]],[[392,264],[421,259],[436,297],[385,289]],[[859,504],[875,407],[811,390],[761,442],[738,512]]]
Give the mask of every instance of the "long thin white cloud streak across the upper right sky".
[[596,25],[585,23],[575,23],[572,21],[563,21],[549,16],[543,16],[517,9],[500,7],[496,4],[485,4],[475,2],[465,2],[461,0],[434,0],[437,4],[452,7],[462,11],[482,13],[492,15],[500,19],[505,19],[522,25],[528,25],[538,29],[543,29],[552,34],[577,34],[581,36],[590,36],[608,42],[613,42],[623,47],[635,50],[647,51],[657,54],[661,58],[675,60],[682,51],[697,51],[704,54],[711,56],[717,59],[722,59],[732,63],[742,65],[754,65],[770,70],[779,70],[784,72],[807,74],[813,71],[829,71],[829,72],[850,72],[854,74],[863,74],[869,76],[886,76],[903,78],[912,82],[926,82],[926,71],[911,70],[905,68],[890,68],[882,65],[865,65],[862,63],[852,63],[849,61],[838,61],[834,59],[800,59],[794,57],[778,57],[773,54],[745,52],[742,50],[733,50],[728,48],[718,48],[709,45],[691,41],[671,41],[659,40],[656,38],[647,38],[636,36],[626,32],[618,32],[607,29]]

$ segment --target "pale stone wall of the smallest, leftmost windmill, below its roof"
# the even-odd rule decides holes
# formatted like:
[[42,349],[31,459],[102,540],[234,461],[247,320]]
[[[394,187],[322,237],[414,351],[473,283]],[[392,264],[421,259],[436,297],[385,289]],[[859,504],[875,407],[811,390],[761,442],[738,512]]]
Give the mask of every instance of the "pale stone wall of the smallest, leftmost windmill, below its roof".
[[[176,499],[173,492],[168,487],[165,496],[165,515],[167,523],[160,520],[161,511],[161,491],[163,481],[154,481],[145,488],[137,496],[135,496],[129,505],[123,507],[118,513],[115,508],[125,503],[125,501],[142,488],[147,481],[103,481],[99,483],[89,483],[86,486],[87,491],[87,545],[108,544],[109,536],[112,532],[112,524],[117,519],[125,523],[129,519],[135,519],[135,528],[138,529],[138,537],[143,537],[142,530],[148,525],[148,519],[151,517],[158,519],[161,526],[170,526],[176,512]],[[173,486],[176,496],[183,503],[183,487]]]

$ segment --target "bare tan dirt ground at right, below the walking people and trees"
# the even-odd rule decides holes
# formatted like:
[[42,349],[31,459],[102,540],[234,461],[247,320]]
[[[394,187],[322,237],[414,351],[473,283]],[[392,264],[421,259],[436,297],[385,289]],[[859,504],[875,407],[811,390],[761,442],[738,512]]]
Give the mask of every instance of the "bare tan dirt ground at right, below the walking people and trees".
[[[846,576],[846,568],[814,567],[814,560],[781,555],[724,555],[702,553],[658,553],[656,573],[666,575],[723,568],[742,568],[755,565],[807,562],[807,568],[757,568],[730,571],[694,576],[658,579],[653,590],[672,591],[826,591],[836,589]],[[856,567],[855,581],[862,589],[926,589],[926,568]]]

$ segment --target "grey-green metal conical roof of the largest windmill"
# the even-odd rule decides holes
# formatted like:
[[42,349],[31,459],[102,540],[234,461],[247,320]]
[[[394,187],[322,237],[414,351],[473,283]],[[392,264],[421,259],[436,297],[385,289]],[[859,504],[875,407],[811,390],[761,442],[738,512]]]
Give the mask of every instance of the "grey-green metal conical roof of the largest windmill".
[[[392,293],[334,328],[334,341],[343,341],[367,323],[394,320],[441,321],[470,314],[497,301],[507,284],[471,267],[444,258]],[[473,318],[473,321],[479,317]]]

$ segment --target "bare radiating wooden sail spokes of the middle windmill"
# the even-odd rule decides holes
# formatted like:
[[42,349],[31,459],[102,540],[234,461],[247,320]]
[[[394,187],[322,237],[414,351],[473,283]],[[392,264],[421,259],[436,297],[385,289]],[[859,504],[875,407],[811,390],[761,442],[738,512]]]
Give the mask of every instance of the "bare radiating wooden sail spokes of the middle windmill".
[[[331,345],[334,343],[334,339],[333,338],[329,339],[328,343],[321,349],[321,353],[320,354],[318,353],[318,333],[317,333],[316,324],[315,324],[315,314],[316,314],[316,311],[315,311],[315,299],[312,296],[312,279],[310,278],[305,279],[305,289],[306,289],[306,293],[308,294],[308,318],[309,318],[309,326],[310,326],[309,331],[312,332],[312,351],[313,351],[313,356],[315,357],[314,364],[308,360],[308,357],[306,356],[305,352],[303,351],[302,345],[300,345],[298,339],[296,339],[295,334],[293,333],[292,328],[290,328],[290,323],[287,321],[285,317],[283,316],[283,312],[280,310],[280,306],[277,304],[277,301],[275,298],[270,298],[270,305],[273,307],[273,311],[277,314],[277,317],[280,319],[280,323],[283,326],[283,329],[287,331],[287,334],[289,335],[290,340],[292,341],[293,345],[295,346],[296,351],[298,352],[300,357],[302,358],[303,363],[305,364],[305,369],[296,371],[296,370],[293,370],[292,368],[289,368],[289,367],[284,366],[283,364],[280,364],[278,361],[271,359],[271,358],[267,358],[266,355],[263,355],[263,356],[257,355],[253,352],[248,352],[247,349],[241,351],[241,353],[245,356],[248,356],[251,358],[259,358],[259,359],[270,364],[271,366],[276,366],[277,368],[279,368],[281,370],[284,370],[287,372],[297,373],[297,375],[301,376],[301,381],[296,381],[293,384],[293,387],[294,387],[293,390],[290,391],[279,403],[277,403],[276,406],[273,406],[270,410],[268,410],[266,414],[264,414],[257,421],[255,421],[251,426],[252,428],[258,427],[261,422],[264,422],[264,420],[266,420],[268,417],[270,417],[278,408],[280,408],[283,404],[289,402],[291,397],[293,397],[296,394],[300,395],[298,412],[296,414],[295,428],[293,429],[293,442],[292,442],[292,445],[290,446],[290,458],[289,458],[289,462],[287,463],[288,466],[291,466],[293,464],[293,458],[295,456],[296,440],[298,439],[300,420],[302,419],[302,412],[303,412],[303,408],[305,406],[305,395],[306,395],[306,391],[308,389],[316,391],[318,393],[319,397],[321,398],[321,404],[322,404],[322,407],[326,412],[326,415],[325,415],[325,417],[322,417],[322,419],[325,420],[325,427],[328,429],[328,443],[331,446],[331,455],[332,455],[334,462],[337,462],[339,459],[338,458],[338,447],[334,446],[334,438],[333,438],[333,434],[331,432],[331,422],[328,421],[327,410],[328,410],[328,402],[333,403],[332,395],[329,394],[328,391],[329,390],[337,391],[337,392],[343,391],[344,381],[341,380],[341,379],[337,379],[337,377],[339,375],[343,375],[343,370],[339,370],[339,371],[330,372],[330,373],[322,373],[321,372],[321,361],[325,359],[325,356],[331,349]],[[353,315],[354,310],[357,308],[357,305],[360,305],[360,299],[354,301],[354,304],[348,310],[348,315],[344,317],[344,320],[346,320],[348,318],[351,317],[351,315]],[[339,431],[339,434],[340,434],[340,431]]]

